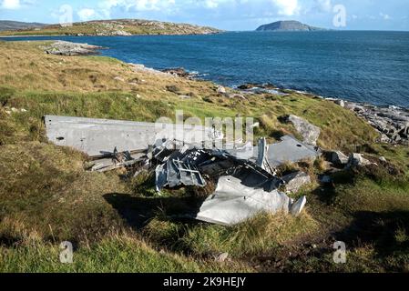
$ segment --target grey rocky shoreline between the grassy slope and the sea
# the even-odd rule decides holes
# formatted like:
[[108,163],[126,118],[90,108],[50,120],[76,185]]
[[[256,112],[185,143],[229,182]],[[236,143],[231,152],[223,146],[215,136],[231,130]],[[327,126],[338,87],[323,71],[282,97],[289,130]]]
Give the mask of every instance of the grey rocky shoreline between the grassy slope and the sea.
[[[81,43],[72,43],[61,40],[56,40],[49,47],[42,47],[46,54],[52,55],[98,55],[99,50],[108,49],[97,45],[87,45]],[[119,60],[119,59],[118,59]],[[144,71],[149,74],[157,75],[177,75],[182,78],[192,80],[205,80],[198,72],[189,72],[184,68],[165,68],[157,70],[147,67],[142,64],[131,65],[136,71]],[[226,92],[223,85],[217,84],[211,80],[211,83],[221,87],[222,92]],[[229,87],[231,91],[237,91],[233,96],[244,97],[249,94],[271,94],[271,95],[291,95],[301,94],[310,96],[312,98],[320,98],[322,100],[332,101],[336,105],[340,105],[345,109],[353,111],[356,115],[363,118],[369,125],[380,134],[378,142],[388,144],[401,144],[409,146],[409,108],[394,106],[394,105],[373,105],[368,103],[360,103],[353,101],[346,101],[343,98],[325,97],[322,95],[315,95],[310,92],[293,90],[288,88],[281,88],[271,84],[243,84],[236,87]]]

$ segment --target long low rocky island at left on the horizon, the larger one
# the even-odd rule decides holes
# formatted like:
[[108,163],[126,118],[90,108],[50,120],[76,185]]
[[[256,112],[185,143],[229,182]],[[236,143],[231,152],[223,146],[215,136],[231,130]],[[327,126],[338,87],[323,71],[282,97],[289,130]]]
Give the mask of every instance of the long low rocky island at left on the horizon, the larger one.
[[[3,22],[0,21],[0,25]],[[5,23],[5,22],[4,22]],[[222,32],[207,26],[175,24],[141,19],[96,20],[73,25],[3,24],[0,36],[19,35],[210,35]],[[0,26],[0,27],[2,27]],[[5,31],[6,30],[6,31]]]

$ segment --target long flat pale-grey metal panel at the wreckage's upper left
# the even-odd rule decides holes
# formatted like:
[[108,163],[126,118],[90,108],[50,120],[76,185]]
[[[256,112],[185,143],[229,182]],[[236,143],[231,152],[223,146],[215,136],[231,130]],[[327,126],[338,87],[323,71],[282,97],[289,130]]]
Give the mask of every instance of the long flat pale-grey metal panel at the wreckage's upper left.
[[[70,146],[91,157],[118,152],[145,151],[158,140],[196,140],[201,143],[221,139],[213,128],[191,125],[155,124],[108,119],[46,115],[46,136],[56,146]],[[179,134],[182,136],[176,136]]]

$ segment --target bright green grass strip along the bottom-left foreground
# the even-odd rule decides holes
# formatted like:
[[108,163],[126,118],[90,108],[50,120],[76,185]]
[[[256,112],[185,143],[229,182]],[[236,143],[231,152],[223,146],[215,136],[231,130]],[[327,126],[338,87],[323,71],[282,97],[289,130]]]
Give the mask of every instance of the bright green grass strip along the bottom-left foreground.
[[26,246],[0,246],[0,272],[181,273],[248,270],[238,264],[220,264],[159,253],[135,237],[123,235],[79,247],[74,252],[73,264],[62,264],[60,253],[61,249],[55,244],[36,241]]

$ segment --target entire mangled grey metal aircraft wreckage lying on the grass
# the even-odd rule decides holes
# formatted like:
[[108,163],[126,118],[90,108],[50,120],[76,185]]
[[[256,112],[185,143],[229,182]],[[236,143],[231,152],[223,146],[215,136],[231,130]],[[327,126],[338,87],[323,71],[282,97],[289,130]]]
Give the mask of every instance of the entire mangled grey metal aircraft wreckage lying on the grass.
[[151,170],[155,172],[158,193],[163,188],[205,187],[208,181],[215,181],[216,190],[193,218],[223,226],[233,226],[261,212],[299,215],[306,197],[294,201],[279,191],[286,182],[276,176],[275,168],[321,155],[318,148],[291,135],[272,145],[261,138],[258,146],[209,149],[203,145],[215,145],[215,141],[223,139],[210,127],[185,125],[183,136],[177,136],[174,133],[178,130],[168,130],[167,126],[174,129],[179,125],[55,115],[44,118],[48,140],[90,156],[91,171],[126,167],[138,176],[143,170]]

